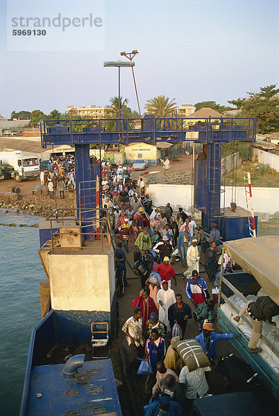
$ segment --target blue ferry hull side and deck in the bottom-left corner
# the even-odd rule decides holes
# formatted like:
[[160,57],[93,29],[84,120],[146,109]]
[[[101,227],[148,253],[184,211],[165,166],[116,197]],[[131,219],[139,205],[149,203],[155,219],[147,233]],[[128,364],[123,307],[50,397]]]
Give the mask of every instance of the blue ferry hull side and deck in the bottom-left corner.
[[66,349],[90,345],[87,315],[76,325],[73,311],[52,309],[33,329],[20,416],[122,415],[110,359],[84,361],[78,374],[89,377],[87,383],[65,379],[62,374],[65,363],[44,364],[56,345],[64,345]]

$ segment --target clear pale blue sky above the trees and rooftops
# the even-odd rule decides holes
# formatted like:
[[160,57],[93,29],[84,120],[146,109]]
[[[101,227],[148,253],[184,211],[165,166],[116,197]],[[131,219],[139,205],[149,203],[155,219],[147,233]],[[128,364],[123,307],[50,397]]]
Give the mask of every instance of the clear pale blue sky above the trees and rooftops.
[[[32,19],[59,14],[88,19],[47,26],[44,36],[12,35],[42,30]],[[28,28],[19,17],[30,17]],[[278,22],[277,0],[0,0],[0,114],[108,105],[118,71],[103,61],[133,49],[142,112],[161,94],[178,105],[227,105],[278,82]],[[121,69],[121,96],[137,110],[129,68]]]

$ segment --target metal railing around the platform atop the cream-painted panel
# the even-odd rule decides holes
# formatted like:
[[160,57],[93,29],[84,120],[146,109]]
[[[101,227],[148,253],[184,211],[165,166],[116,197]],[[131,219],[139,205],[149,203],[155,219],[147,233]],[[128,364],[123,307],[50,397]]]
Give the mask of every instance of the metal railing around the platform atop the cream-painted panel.
[[[69,214],[73,212],[74,216],[65,216],[65,211]],[[81,218],[81,211],[82,214],[86,214],[87,211],[92,213],[92,209],[57,208],[47,216],[46,220],[50,221],[51,239],[44,243],[42,248],[51,248],[52,253],[54,254],[56,248],[63,249],[61,247],[61,236],[78,235],[79,239],[81,239],[81,250],[92,247],[94,250],[99,249],[100,254],[104,254],[104,252],[108,252],[108,248],[110,249],[112,246],[115,251],[115,243],[112,238],[112,226],[109,217],[110,210],[101,209],[103,214],[102,217],[94,216],[89,218]],[[60,232],[61,227],[67,226],[69,226],[69,228],[71,226],[76,227],[76,229],[72,232]],[[58,227],[59,231],[56,231]],[[87,231],[88,228],[90,231]]]

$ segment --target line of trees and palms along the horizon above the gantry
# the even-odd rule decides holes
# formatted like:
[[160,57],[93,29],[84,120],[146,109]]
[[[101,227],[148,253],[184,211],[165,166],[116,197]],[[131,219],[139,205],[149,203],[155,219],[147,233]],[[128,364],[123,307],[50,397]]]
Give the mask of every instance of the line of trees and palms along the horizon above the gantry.
[[[200,110],[202,107],[210,107],[217,112],[223,114],[228,110],[239,110],[237,118],[244,117],[257,117],[257,131],[260,133],[276,132],[279,131],[279,89],[276,88],[276,84],[268,85],[267,87],[261,87],[259,92],[247,92],[248,97],[236,98],[235,100],[228,101],[233,107],[217,104],[216,101],[201,101],[194,105],[195,111]],[[164,95],[155,96],[146,101],[144,110],[149,114],[154,114],[155,117],[172,117],[174,110],[178,107],[176,98],[169,98]],[[120,98],[120,110],[121,117],[124,119],[138,119],[140,114],[135,110],[128,107],[128,98]],[[105,119],[118,119],[119,116],[119,98],[110,98],[110,105],[107,105],[105,110]],[[90,119],[89,116],[85,116],[85,119]],[[49,114],[44,114],[40,110],[28,111],[13,111],[10,115],[10,120],[30,120],[29,125],[36,126],[41,120],[67,120],[67,119],[80,119],[83,117],[78,116],[75,110],[61,113],[58,110],[52,110]],[[133,123],[131,121],[130,123]],[[108,122],[108,129],[114,130],[115,121]]]

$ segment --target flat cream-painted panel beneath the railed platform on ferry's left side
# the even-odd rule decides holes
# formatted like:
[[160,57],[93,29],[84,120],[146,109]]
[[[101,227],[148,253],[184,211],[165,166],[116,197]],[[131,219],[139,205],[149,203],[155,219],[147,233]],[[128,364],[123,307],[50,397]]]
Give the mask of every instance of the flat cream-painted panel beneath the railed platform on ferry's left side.
[[110,312],[108,255],[49,254],[51,307],[63,311]]

